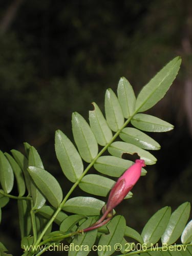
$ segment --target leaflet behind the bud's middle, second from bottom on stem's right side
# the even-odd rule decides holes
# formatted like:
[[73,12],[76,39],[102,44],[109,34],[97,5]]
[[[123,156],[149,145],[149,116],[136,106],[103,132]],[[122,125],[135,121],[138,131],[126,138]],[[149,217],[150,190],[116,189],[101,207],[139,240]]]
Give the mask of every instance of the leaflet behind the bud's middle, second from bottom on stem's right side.
[[[106,197],[114,184],[115,181],[109,178],[97,174],[88,174],[82,178],[79,187],[87,193]],[[132,195],[132,193],[129,193],[125,199],[131,198]]]

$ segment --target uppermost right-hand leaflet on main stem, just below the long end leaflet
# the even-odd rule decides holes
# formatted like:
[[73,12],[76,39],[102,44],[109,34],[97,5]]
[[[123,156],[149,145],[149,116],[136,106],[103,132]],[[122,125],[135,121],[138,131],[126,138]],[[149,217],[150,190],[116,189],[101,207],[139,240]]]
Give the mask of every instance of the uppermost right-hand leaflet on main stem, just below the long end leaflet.
[[146,132],[168,132],[174,129],[174,125],[161,120],[158,117],[146,115],[146,114],[137,114],[135,115],[131,123],[137,129]]

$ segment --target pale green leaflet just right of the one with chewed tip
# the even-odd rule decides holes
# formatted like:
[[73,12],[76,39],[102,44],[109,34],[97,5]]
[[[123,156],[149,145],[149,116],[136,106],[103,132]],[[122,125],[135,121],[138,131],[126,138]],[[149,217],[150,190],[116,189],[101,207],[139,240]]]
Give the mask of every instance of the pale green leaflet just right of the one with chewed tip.
[[104,107],[106,121],[111,130],[117,132],[124,124],[124,117],[119,100],[112,89],[106,90]]

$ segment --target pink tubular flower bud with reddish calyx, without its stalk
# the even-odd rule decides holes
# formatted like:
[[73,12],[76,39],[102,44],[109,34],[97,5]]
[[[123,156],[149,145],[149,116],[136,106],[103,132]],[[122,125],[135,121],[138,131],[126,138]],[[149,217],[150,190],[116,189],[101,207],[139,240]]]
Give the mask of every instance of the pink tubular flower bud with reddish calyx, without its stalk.
[[145,161],[137,159],[135,163],[117,180],[110,192],[105,212],[110,212],[114,209],[124,199],[127,193],[129,193],[140,178],[141,168],[143,166],[145,166]]

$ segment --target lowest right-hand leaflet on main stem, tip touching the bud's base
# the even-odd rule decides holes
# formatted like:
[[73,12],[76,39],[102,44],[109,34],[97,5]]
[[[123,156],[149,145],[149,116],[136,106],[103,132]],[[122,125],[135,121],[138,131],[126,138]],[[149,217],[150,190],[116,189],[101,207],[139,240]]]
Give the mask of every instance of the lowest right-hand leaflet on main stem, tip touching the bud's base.
[[86,216],[100,215],[104,202],[93,197],[74,197],[69,199],[63,206],[63,210],[73,214],[82,214]]

